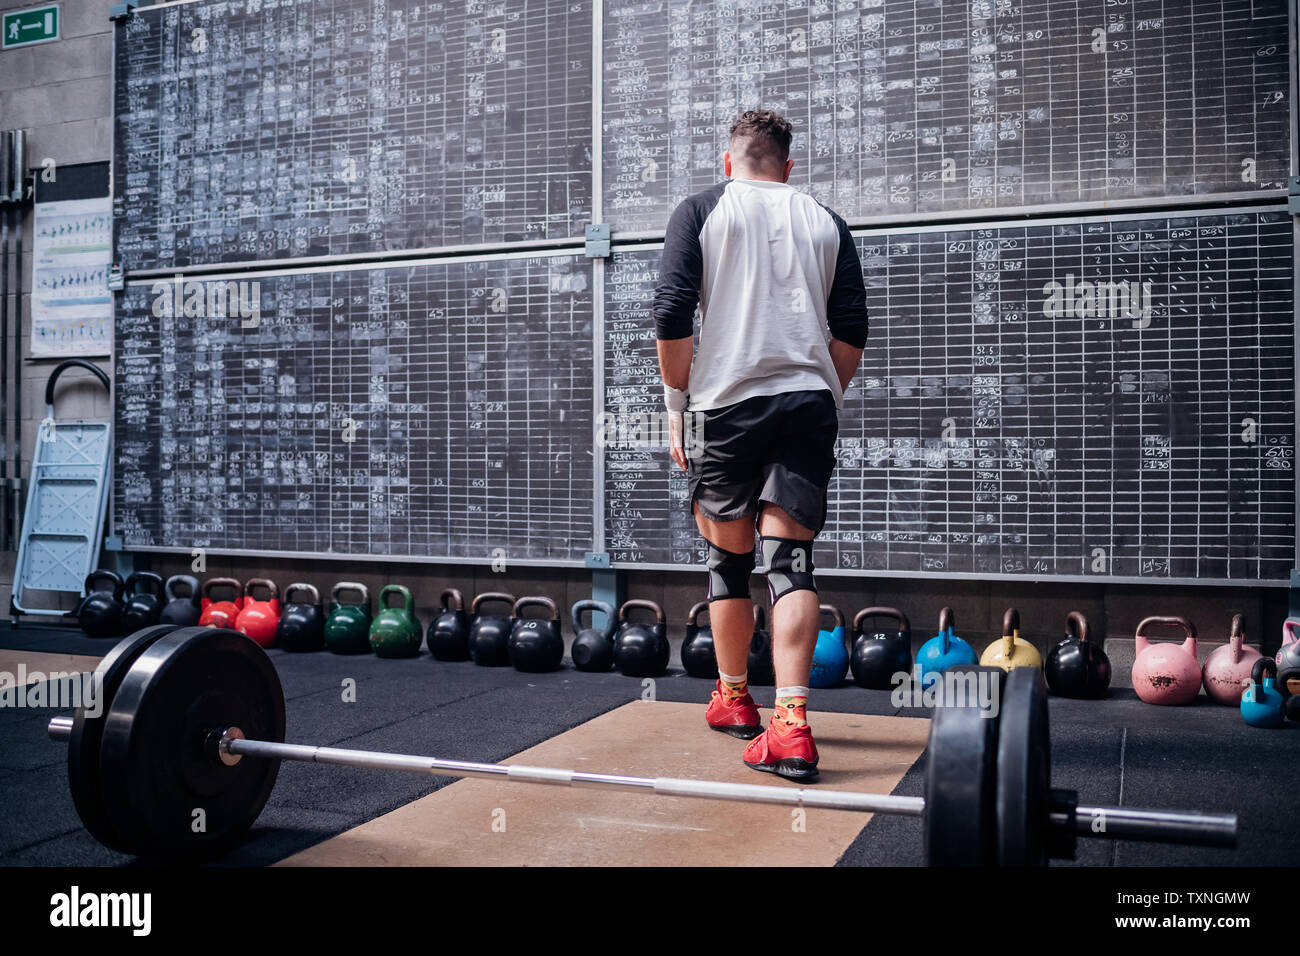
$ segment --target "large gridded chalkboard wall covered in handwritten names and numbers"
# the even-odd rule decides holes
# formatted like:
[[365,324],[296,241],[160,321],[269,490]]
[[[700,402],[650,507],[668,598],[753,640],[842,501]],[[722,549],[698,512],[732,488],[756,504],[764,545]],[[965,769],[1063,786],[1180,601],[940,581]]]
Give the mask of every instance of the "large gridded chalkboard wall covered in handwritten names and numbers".
[[763,105],[868,289],[823,568],[1284,580],[1290,56],[1286,0],[136,9],[113,529],[698,564],[664,450],[602,436],[659,411],[654,241]]

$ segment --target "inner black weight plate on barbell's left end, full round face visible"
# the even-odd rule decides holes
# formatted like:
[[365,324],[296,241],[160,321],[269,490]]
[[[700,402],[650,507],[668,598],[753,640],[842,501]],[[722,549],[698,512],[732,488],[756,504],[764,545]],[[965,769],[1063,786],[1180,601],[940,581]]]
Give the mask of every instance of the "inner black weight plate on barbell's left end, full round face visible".
[[[224,628],[186,628],[136,658],[100,745],[104,806],[129,852],[200,858],[234,847],[265,806],[278,760],[222,763],[213,730],[283,741],[285,695],[266,653]],[[195,832],[200,819],[203,827]]]

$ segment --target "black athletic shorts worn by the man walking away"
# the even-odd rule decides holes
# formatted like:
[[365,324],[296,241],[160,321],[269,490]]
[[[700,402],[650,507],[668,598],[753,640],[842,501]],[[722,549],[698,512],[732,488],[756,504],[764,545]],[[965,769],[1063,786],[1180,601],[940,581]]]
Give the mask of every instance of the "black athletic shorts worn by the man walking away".
[[757,395],[688,420],[686,473],[699,514],[731,522],[757,515],[759,502],[768,501],[822,531],[840,432],[829,390]]

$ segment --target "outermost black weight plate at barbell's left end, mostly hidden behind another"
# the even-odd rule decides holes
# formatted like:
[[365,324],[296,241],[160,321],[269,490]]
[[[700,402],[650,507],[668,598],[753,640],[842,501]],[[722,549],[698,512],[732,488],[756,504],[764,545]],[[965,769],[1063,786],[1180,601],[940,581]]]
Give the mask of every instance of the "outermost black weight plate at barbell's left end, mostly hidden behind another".
[[122,684],[122,678],[131,669],[135,658],[143,654],[153,641],[176,631],[176,624],[159,624],[136,631],[124,637],[113,649],[100,658],[91,676],[91,691],[98,704],[96,714],[78,708],[73,715],[73,732],[68,739],[68,788],[73,795],[77,816],[90,831],[90,835],[112,849],[122,849],[122,843],[108,823],[104,800],[99,790],[99,745],[104,734],[104,721],[108,709]]

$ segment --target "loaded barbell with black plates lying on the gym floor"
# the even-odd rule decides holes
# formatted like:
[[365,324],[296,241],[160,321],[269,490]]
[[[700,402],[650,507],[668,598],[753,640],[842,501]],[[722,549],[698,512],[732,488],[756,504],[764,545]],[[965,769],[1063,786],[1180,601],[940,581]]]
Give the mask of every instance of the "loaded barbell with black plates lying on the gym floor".
[[[1046,692],[1035,669],[970,667],[946,678],[949,705],[930,728],[926,796],[624,777],[511,763],[285,743],[285,697],[266,653],[211,627],[150,627],[126,637],[92,678],[103,705],[56,717],[86,829],[142,857],[204,858],[237,845],[285,760],[434,777],[488,778],[676,797],[922,817],[931,865],[1045,865],[1072,858],[1078,835],[1236,845],[1236,816],[1084,806],[1050,786]],[[996,715],[978,680],[997,682]],[[967,705],[954,702],[965,682]]]

